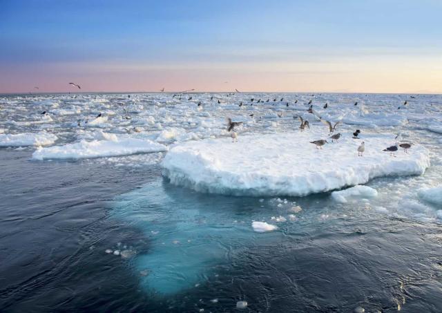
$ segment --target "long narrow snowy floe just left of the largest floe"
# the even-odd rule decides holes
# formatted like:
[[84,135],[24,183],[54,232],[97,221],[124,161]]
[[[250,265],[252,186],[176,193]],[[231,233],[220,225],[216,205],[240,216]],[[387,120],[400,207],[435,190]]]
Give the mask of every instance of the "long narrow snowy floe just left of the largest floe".
[[93,140],[89,142],[81,140],[73,144],[65,144],[64,146],[39,147],[32,154],[32,158],[35,160],[101,158],[167,151],[167,147],[164,144],[152,142],[151,140],[135,138],[113,139],[115,140]]

